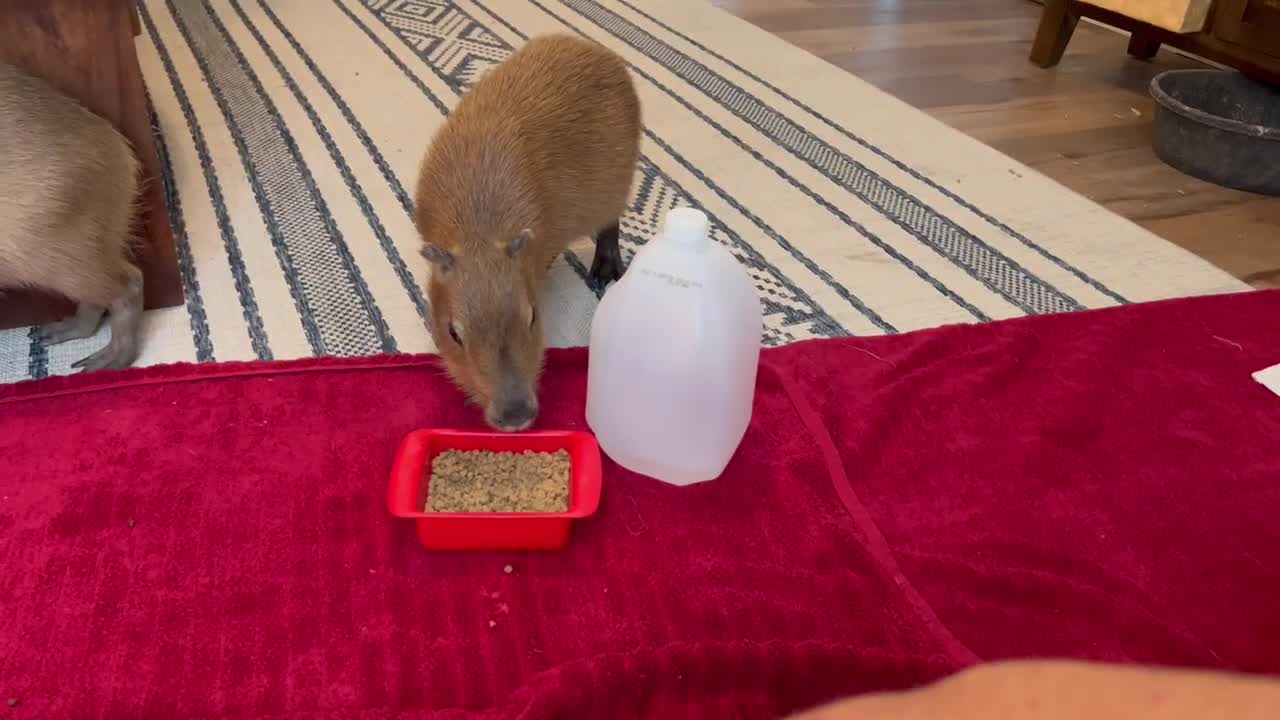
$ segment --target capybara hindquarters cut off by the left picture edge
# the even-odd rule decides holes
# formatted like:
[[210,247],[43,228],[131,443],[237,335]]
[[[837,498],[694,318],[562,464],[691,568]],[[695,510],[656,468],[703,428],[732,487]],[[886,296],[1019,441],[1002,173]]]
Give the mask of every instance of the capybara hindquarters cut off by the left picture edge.
[[111,123],[0,63],[0,290],[38,288],[77,302],[73,316],[45,328],[49,342],[90,337],[110,313],[111,340],[74,364],[83,370],[124,368],[138,355],[142,272],[131,251],[138,169]]

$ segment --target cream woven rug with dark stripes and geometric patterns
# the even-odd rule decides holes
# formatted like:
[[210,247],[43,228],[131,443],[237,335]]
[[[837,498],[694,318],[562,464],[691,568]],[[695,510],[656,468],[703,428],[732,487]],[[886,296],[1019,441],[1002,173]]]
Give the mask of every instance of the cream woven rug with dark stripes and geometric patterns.
[[[431,351],[412,184],[431,132],[529,37],[617,50],[644,104],[623,249],[695,205],[764,342],[1244,288],[869,85],[695,0],[145,0],[138,54],[186,283],[141,364]],[[548,342],[582,345],[584,238]],[[0,380],[106,340],[0,333]]]

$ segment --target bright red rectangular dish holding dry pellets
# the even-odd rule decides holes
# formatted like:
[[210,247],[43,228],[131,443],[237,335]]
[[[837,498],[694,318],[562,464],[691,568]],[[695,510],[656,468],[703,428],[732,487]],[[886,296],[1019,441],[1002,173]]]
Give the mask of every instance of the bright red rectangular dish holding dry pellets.
[[[564,512],[424,512],[426,469],[445,450],[506,452],[568,451],[571,473]],[[600,447],[591,433],[481,433],[415,430],[401,442],[392,468],[387,509],[417,523],[417,538],[428,550],[559,550],[568,543],[573,520],[600,506]]]

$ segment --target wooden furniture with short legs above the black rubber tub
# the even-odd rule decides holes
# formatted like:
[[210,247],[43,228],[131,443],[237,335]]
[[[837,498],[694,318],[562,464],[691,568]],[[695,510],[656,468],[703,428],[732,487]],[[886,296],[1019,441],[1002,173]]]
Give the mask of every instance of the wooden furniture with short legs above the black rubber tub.
[[1280,0],[1213,0],[1203,27],[1174,32],[1079,0],[1044,0],[1030,59],[1050,68],[1062,59],[1082,17],[1129,31],[1129,54],[1149,60],[1161,44],[1280,83]]

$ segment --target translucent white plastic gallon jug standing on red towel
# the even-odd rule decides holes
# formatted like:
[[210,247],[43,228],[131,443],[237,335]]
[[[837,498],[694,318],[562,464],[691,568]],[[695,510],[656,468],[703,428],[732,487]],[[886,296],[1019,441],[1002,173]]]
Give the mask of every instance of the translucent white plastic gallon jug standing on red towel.
[[669,211],[591,322],[586,421],[600,448],[678,486],[719,477],[751,420],[760,331],[755,286],[707,215]]

